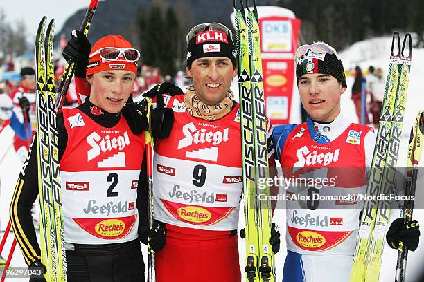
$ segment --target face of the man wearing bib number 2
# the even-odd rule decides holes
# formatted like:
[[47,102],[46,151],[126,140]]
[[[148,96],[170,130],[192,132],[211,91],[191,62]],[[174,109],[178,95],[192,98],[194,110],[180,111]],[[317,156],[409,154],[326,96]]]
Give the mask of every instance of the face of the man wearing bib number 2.
[[132,92],[132,71],[100,71],[87,77],[91,84],[89,101],[108,113],[118,113]]

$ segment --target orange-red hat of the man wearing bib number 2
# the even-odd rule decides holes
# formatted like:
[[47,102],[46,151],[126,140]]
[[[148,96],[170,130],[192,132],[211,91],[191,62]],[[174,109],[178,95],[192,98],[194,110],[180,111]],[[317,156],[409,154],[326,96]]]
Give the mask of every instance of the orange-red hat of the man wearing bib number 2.
[[107,35],[98,39],[98,41],[91,48],[90,59],[89,63],[87,64],[87,75],[92,75],[93,73],[98,73],[100,71],[114,70],[125,70],[136,73],[137,63],[128,62],[127,60],[125,60],[123,55],[113,61],[103,59],[102,57],[100,57],[100,53],[97,53],[96,55],[91,57],[91,54],[105,47],[132,48],[132,45],[121,35]]

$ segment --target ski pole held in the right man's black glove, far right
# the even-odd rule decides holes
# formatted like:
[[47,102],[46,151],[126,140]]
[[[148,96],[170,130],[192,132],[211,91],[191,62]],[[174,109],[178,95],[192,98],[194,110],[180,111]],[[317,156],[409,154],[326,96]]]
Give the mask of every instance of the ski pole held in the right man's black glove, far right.
[[[407,171],[405,182],[405,196],[415,196],[416,179],[418,177],[418,164],[421,159],[424,142],[424,111],[421,110],[416,116],[416,122],[411,129],[409,138]],[[403,205],[403,219],[405,223],[412,221],[412,212],[414,210],[414,200],[405,200]],[[395,282],[405,281],[405,270],[408,258],[408,249],[399,242],[398,260],[396,263]]]

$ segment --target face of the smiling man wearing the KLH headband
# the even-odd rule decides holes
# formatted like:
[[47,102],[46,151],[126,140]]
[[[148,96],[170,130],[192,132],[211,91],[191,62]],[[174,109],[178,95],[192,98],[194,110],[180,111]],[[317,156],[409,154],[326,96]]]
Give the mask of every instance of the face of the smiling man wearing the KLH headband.
[[193,78],[193,86],[200,101],[215,106],[227,96],[237,68],[227,57],[206,57],[193,61],[186,68],[188,77]]

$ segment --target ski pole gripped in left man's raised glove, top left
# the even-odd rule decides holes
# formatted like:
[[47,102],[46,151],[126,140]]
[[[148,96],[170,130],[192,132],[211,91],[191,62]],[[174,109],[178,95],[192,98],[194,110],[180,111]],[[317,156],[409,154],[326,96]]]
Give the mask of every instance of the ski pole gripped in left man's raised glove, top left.
[[[87,9],[87,12],[85,12],[85,17],[80,27],[80,31],[84,32],[85,36],[87,36],[89,28],[91,26],[91,21],[93,21],[97,4],[98,4],[98,0],[91,0],[89,4],[89,8]],[[56,112],[62,111],[62,106],[65,100],[65,97],[67,96],[69,84],[71,84],[75,67],[76,67],[76,63],[73,62],[71,59],[69,59],[68,64],[65,67],[64,73],[62,75],[62,79],[60,80],[60,84],[58,86],[58,92],[56,93],[56,102],[55,102]]]

